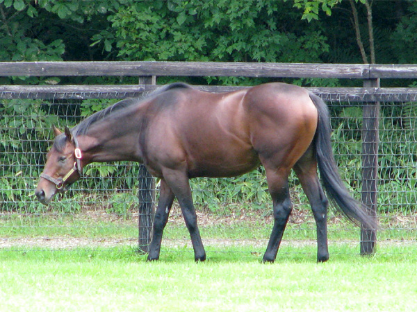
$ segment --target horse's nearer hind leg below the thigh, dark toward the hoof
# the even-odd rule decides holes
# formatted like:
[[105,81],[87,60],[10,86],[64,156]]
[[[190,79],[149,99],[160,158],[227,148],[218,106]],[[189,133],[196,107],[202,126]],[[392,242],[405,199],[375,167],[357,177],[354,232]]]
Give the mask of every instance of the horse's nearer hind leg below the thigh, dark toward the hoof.
[[288,218],[293,209],[288,188],[288,171],[277,171],[265,166],[268,189],[272,198],[274,225],[263,255],[263,262],[273,262],[277,257],[279,245],[284,234]]

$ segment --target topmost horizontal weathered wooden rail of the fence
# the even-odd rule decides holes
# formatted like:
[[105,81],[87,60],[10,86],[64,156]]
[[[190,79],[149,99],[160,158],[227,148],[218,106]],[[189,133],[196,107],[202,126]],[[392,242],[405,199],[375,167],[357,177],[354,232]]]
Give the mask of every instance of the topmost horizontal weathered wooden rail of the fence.
[[0,76],[416,78],[417,64],[247,62],[0,62]]

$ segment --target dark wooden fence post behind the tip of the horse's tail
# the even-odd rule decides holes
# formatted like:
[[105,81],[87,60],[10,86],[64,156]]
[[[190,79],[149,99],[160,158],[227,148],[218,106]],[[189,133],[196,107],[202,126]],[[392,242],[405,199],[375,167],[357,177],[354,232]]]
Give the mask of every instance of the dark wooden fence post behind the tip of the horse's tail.
[[[379,79],[363,81],[363,87],[379,87]],[[377,179],[379,146],[379,102],[363,105],[362,122],[362,196],[368,214],[377,218]],[[361,226],[361,254],[373,254],[377,242],[377,230]]]

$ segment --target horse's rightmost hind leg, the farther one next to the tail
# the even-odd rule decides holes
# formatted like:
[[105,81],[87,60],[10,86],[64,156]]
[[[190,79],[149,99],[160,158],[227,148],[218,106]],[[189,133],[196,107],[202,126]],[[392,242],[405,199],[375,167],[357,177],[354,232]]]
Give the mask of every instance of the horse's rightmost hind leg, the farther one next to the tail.
[[327,246],[328,200],[318,180],[316,159],[313,156],[311,148],[295,164],[294,171],[300,180],[304,193],[306,193],[309,199],[311,210],[316,220],[317,261],[325,262],[329,259],[329,249]]

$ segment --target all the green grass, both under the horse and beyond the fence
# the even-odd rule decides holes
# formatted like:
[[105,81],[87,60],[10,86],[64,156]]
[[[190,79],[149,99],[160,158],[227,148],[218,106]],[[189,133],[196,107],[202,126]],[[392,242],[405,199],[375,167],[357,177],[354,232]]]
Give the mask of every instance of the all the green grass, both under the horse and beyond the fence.
[[[113,248],[47,245],[136,238],[134,218],[3,215],[3,241],[40,245],[0,248],[0,311],[417,311],[414,230],[382,229],[375,256],[361,257],[359,229],[329,223],[330,260],[316,263],[314,224],[290,223],[277,261],[263,264],[270,220],[200,219],[206,262],[193,261],[188,231],[173,216],[161,260],[148,263],[137,241]],[[227,239],[247,242],[221,243]]]

